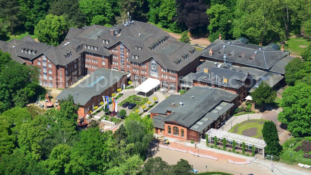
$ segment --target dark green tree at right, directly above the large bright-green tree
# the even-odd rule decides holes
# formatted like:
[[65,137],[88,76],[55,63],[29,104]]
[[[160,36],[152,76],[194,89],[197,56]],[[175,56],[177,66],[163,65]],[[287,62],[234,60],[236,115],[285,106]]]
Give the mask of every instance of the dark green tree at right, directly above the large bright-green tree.
[[296,73],[302,68],[304,62],[296,57],[285,66],[285,82],[293,86],[297,80]]

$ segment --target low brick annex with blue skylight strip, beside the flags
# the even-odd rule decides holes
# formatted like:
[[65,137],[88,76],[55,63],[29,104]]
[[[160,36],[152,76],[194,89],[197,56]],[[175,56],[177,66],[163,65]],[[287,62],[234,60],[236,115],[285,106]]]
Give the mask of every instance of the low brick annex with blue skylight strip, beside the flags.
[[126,72],[99,68],[74,87],[62,90],[55,99],[62,100],[72,95],[73,102],[79,104],[78,115],[84,116],[87,110],[93,111],[95,106],[100,106],[104,101],[102,96],[110,97],[116,93],[126,83],[127,75]]

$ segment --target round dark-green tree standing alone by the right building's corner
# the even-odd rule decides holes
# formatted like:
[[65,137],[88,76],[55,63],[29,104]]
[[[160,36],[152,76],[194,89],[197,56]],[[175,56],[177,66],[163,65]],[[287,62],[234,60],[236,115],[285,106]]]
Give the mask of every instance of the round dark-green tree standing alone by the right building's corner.
[[251,94],[253,102],[263,108],[263,104],[273,103],[276,98],[276,91],[264,81]]

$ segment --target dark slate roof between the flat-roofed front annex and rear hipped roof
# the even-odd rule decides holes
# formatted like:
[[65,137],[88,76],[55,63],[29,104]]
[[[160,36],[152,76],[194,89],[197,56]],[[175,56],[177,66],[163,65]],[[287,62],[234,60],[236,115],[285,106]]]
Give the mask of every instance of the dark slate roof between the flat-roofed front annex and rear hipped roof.
[[[201,67],[192,77],[193,80],[207,82],[215,85],[221,85],[231,88],[240,88],[244,85],[242,81],[245,81],[248,77],[247,73],[238,72],[235,69],[230,70],[228,67],[222,68],[219,64],[219,68],[215,66]],[[204,72],[204,68],[208,69],[208,73]],[[228,82],[225,83],[224,79],[227,78]]]

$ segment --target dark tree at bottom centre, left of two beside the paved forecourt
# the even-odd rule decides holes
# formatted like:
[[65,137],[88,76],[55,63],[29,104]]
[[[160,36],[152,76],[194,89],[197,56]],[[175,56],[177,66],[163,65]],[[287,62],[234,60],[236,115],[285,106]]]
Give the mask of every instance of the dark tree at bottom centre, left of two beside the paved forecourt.
[[147,162],[144,164],[144,168],[142,170],[143,175],[162,175],[171,173],[171,166],[162,160],[161,157],[149,158]]

